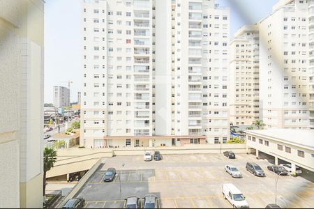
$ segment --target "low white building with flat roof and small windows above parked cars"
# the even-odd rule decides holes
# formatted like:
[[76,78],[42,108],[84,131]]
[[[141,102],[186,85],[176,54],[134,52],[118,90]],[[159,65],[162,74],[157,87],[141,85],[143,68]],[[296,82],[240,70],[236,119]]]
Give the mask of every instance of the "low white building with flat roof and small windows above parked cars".
[[256,157],[260,157],[260,153],[266,153],[274,157],[276,165],[289,163],[294,175],[296,165],[314,172],[314,130],[271,129],[245,132],[246,147],[255,149]]

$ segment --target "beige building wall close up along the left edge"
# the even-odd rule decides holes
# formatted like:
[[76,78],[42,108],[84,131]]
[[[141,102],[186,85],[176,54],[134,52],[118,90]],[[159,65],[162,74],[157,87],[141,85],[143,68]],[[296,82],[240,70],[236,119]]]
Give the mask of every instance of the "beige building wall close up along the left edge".
[[44,1],[0,1],[0,208],[43,207]]

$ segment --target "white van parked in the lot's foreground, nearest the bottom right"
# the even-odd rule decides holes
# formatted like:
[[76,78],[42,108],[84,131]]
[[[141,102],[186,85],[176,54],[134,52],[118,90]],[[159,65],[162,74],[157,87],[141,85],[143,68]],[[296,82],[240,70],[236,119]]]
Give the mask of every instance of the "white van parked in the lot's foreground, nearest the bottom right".
[[223,184],[223,197],[227,199],[234,208],[250,208],[245,196],[233,184]]

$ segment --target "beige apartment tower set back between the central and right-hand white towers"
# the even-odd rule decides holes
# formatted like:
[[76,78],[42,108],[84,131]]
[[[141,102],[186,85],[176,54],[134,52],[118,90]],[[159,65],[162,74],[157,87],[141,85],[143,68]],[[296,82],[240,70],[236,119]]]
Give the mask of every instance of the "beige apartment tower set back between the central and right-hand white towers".
[[230,42],[230,123],[251,125],[259,112],[258,25],[245,25]]

